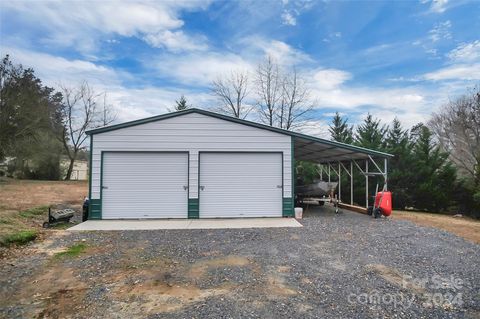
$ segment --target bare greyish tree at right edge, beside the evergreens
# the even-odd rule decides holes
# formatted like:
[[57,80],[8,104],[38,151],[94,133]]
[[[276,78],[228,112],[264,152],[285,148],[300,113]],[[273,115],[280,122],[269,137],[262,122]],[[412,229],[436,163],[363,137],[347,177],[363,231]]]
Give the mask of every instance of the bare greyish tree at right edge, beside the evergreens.
[[430,127],[461,170],[480,183],[480,87],[433,114]]

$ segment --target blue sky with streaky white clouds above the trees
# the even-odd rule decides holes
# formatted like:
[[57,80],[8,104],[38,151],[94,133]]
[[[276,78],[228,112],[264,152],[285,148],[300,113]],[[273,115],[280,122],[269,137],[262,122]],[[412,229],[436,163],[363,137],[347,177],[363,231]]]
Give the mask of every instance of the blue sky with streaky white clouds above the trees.
[[[2,1],[1,54],[50,86],[87,80],[118,121],[166,112],[184,94],[218,103],[213,80],[267,55],[296,67],[315,103],[303,131],[332,113],[426,122],[480,83],[480,1]],[[252,90],[253,91],[253,90]],[[249,102],[254,103],[251,93]],[[253,119],[253,118],[252,118]]]

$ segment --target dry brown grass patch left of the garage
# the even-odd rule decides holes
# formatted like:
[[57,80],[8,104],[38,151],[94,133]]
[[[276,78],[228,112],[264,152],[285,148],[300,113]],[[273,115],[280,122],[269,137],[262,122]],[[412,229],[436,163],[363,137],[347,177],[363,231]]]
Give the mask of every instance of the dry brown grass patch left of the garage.
[[20,231],[40,229],[47,220],[47,206],[69,204],[80,209],[87,192],[86,181],[1,179],[0,242]]

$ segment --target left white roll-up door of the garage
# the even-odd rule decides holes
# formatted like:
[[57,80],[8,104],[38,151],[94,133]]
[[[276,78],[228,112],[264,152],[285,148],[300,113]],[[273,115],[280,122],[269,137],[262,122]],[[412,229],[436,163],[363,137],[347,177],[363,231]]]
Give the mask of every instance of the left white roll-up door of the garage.
[[103,154],[102,218],[187,218],[186,153]]

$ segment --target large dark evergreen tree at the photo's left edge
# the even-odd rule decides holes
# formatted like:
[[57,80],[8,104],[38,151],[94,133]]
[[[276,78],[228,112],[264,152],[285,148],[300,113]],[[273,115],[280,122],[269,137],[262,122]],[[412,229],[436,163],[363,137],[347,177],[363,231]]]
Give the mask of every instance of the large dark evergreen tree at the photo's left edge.
[[58,179],[62,144],[62,95],[46,87],[32,69],[5,56],[0,63],[0,160],[10,157],[9,175]]

